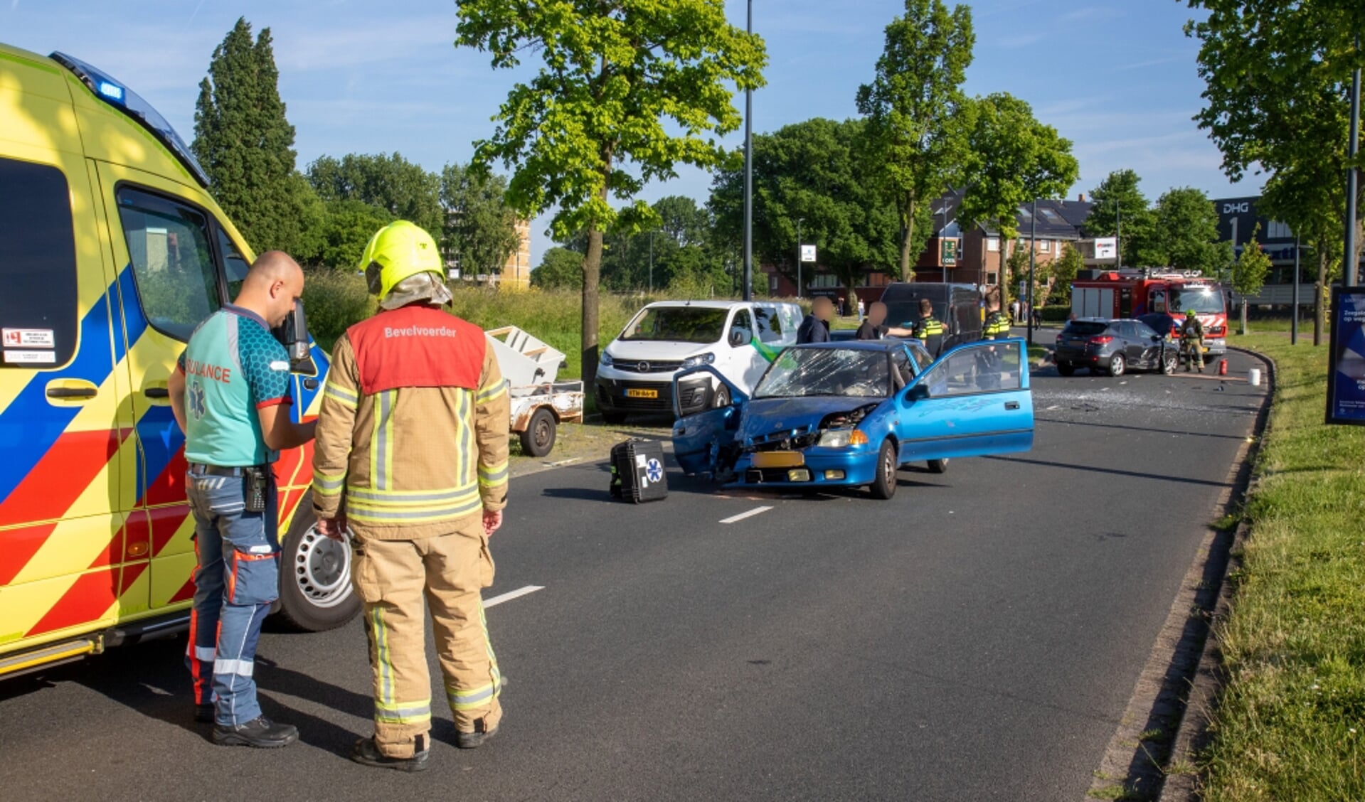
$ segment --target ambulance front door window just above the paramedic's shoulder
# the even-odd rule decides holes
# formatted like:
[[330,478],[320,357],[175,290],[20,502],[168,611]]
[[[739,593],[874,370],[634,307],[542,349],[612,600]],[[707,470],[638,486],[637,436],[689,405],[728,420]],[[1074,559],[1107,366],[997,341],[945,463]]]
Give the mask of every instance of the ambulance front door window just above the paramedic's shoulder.
[[188,341],[221,306],[207,220],[161,195],[130,187],[116,195],[142,314],[157,331]]

